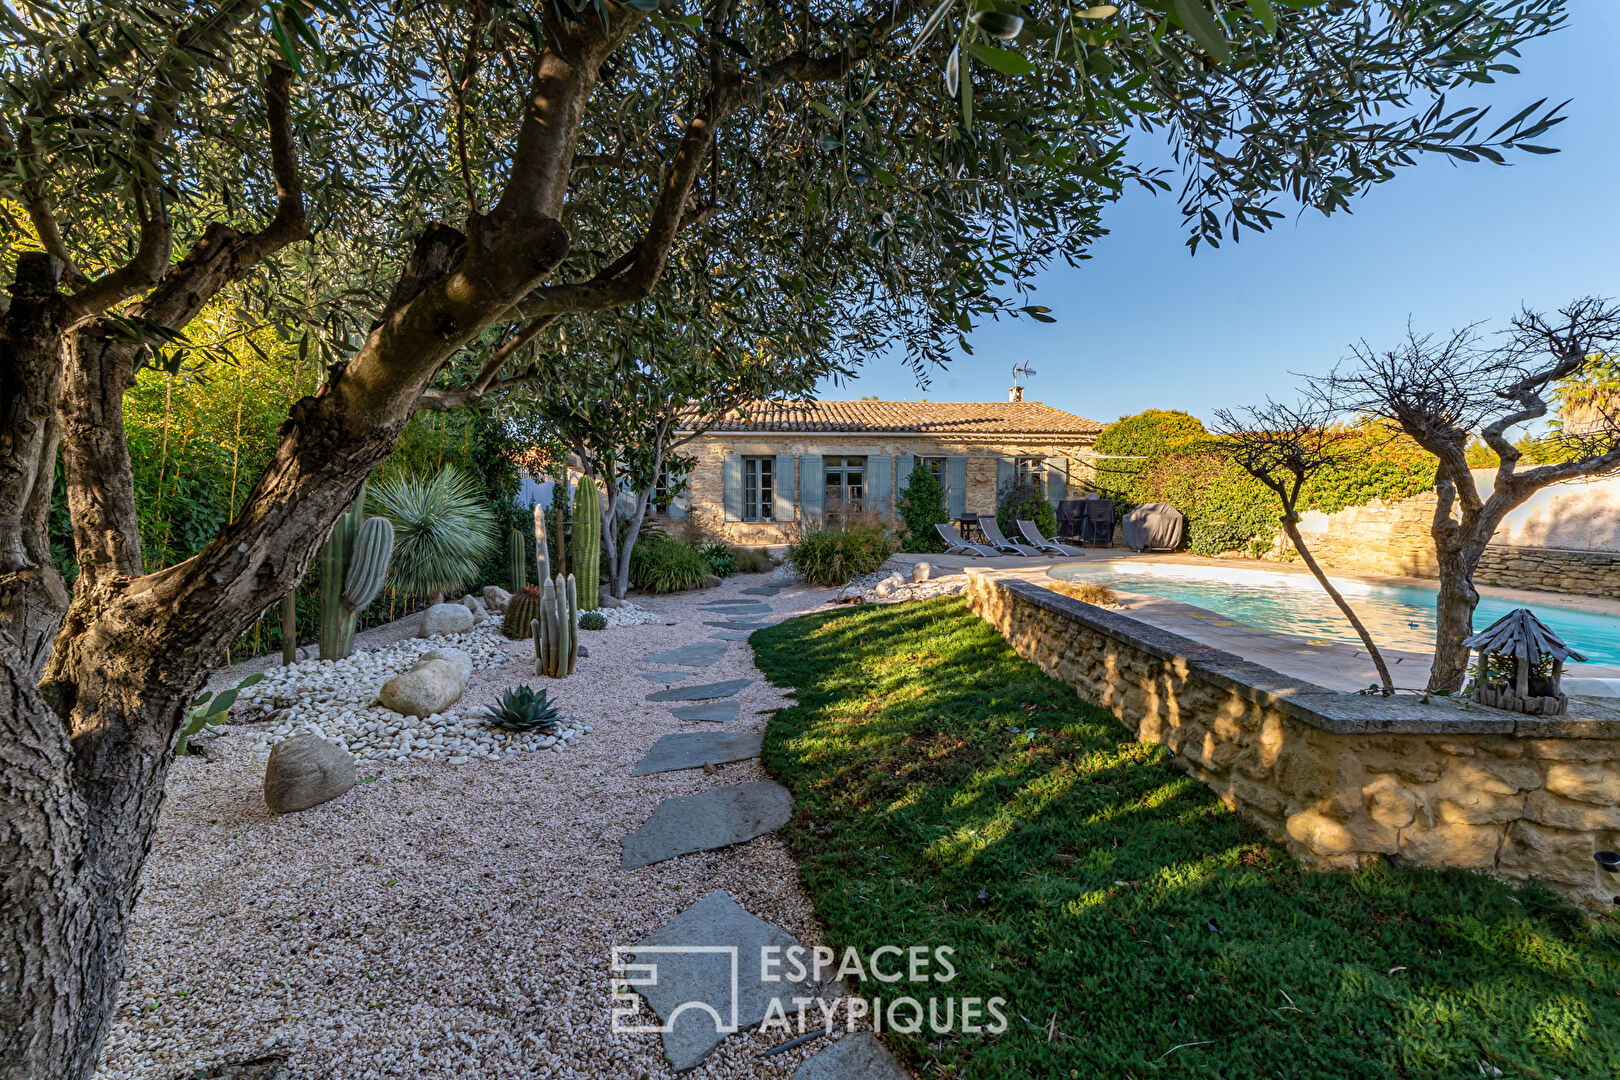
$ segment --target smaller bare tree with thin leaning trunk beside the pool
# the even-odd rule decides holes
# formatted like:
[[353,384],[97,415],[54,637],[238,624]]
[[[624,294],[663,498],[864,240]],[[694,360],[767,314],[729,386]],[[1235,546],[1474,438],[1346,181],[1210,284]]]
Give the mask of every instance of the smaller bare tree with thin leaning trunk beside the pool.
[[1328,423],[1332,419],[1328,406],[1309,400],[1298,405],[1280,405],[1267,400],[1265,406],[1241,410],[1241,413],[1218,410],[1215,418],[1220,424],[1217,434],[1223,437],[1225,452],[1249,476],[1277,495],[1283,507],[1281,523],[1288,542],[1299,552],[1311,576],[1317,580],[1346,622],[1356,628],[1356,636],[1367,648],[1372,665],[1379,669],[1383,693],[1395,693],[1390,669],[1367,627],[1356,615],[1349,601],[1333,588],[1333,581],[1328,580],[1306,546],[1304,536],[1299,534],[1299,494],[1304,491],[1306,481],[1322,470],[1348,463],[1349,450],[1346,447],[1351,444],[1341,432],[1333,431]]

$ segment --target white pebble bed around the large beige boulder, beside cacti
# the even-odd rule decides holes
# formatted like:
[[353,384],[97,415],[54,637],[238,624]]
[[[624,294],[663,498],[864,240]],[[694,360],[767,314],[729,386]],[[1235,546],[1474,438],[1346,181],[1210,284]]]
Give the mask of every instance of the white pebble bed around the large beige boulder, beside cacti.
[[[377,688],[410,670],[423,653],[462,649],[473,657],[476,680],[480,670],[510,662],[505,644],[491,620],[467,633],[405,638],[376,649],[356,649],[342,661],[314,659],[275,667],[264,682],[241,691],[232,708],[232,721],[271,724],[251,743],[259,751],[309,732],[335,742],[360,761],[447,758],[450,764],[467,764],[473,758],[525,750],[561,753],[590,727],[565,721],[549,732],[505,732],[486,724],[483,709],[470,708],[465,693],[450,711],[426,717],[400,716],[377,704]],[[528,682],[535,685],[539,678]]]

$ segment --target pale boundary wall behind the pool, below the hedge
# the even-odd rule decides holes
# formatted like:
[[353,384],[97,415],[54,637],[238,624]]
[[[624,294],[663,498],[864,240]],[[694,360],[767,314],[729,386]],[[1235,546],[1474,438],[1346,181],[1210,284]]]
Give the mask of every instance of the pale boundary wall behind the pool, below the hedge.
[[[1489,491],[1494,473],[1477,470]],[[1434,578],[1434,492],[1372,500],[1336,513],[1309,512],[1299,531],[1328,568]],[[1278,551],[1285,551],[1280,544]],[[1620,596],[1620,479],[1558,484],[1537,492],[1497,529],[1477,585],[1580,596]]]

